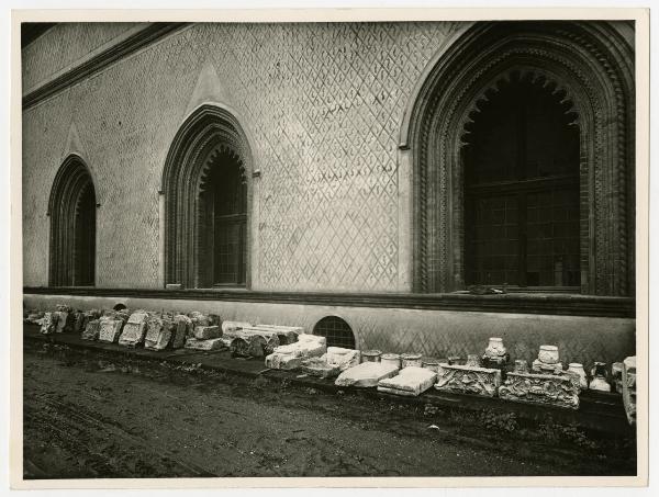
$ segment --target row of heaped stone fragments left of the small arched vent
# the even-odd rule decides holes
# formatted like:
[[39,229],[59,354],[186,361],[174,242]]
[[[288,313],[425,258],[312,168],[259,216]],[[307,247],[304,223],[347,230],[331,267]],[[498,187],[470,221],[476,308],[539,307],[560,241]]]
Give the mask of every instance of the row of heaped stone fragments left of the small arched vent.
[[74,310],[57,305],[53,312],[29,312],[25,320],[41,325],[44,335],[77,332],[98,340],[149,350],[231,350],[235,358],[260,358],[281,346],[295,342],[300,327],[222,321],[215,314],[168,313],[127,308]]

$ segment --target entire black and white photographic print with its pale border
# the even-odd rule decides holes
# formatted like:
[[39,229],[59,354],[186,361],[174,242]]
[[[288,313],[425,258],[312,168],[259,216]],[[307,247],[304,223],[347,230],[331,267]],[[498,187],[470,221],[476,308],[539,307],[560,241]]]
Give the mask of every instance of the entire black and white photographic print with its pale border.
[[21,11],[14,482],[645,485],[648,14],[491,12]]

